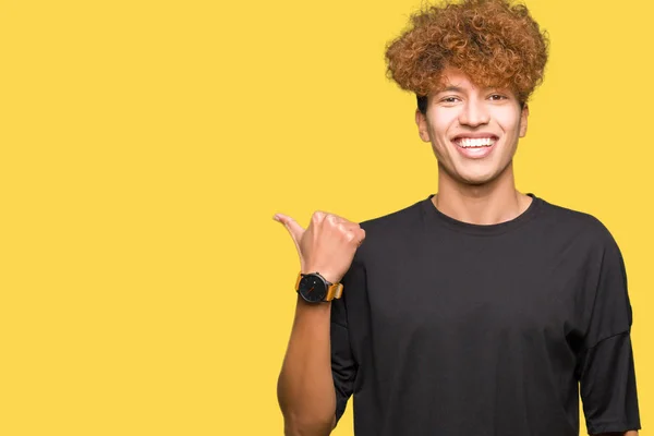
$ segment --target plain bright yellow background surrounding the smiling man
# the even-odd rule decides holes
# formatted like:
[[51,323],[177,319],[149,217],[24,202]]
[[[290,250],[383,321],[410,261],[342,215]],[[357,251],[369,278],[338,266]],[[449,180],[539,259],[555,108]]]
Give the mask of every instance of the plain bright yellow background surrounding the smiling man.
[[[654,5],[528,4],[552,56],[518,184],[622,249],[646,435]],[[383,57],[417,5],[0,2],[1,435],[282,434],[299,263],[271,217],[436,191]]]

